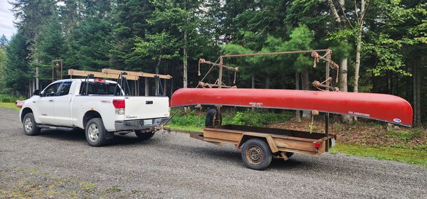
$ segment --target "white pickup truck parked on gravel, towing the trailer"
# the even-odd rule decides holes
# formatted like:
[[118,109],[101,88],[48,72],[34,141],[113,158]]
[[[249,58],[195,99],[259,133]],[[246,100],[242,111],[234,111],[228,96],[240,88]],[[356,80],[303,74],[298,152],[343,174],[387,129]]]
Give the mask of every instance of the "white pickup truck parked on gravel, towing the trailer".
[[168,97],[126,96],[116,82],[101,79],[58,80],[23,102],[19,118],[29,136],[41,129],[85,129],[90,146],[101,146],[114,132],[135,131],[150,139],[169,121]]

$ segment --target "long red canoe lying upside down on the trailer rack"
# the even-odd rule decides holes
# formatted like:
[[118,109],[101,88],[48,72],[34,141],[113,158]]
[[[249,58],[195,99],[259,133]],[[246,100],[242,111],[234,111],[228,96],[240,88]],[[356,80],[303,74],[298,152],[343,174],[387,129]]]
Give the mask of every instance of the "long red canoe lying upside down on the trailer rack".
[[183,88],[172,95],[172,107],[199,104],[317,110],[377,119],[408,127],[412,125],[411,104],[394,95],[243,88]]

